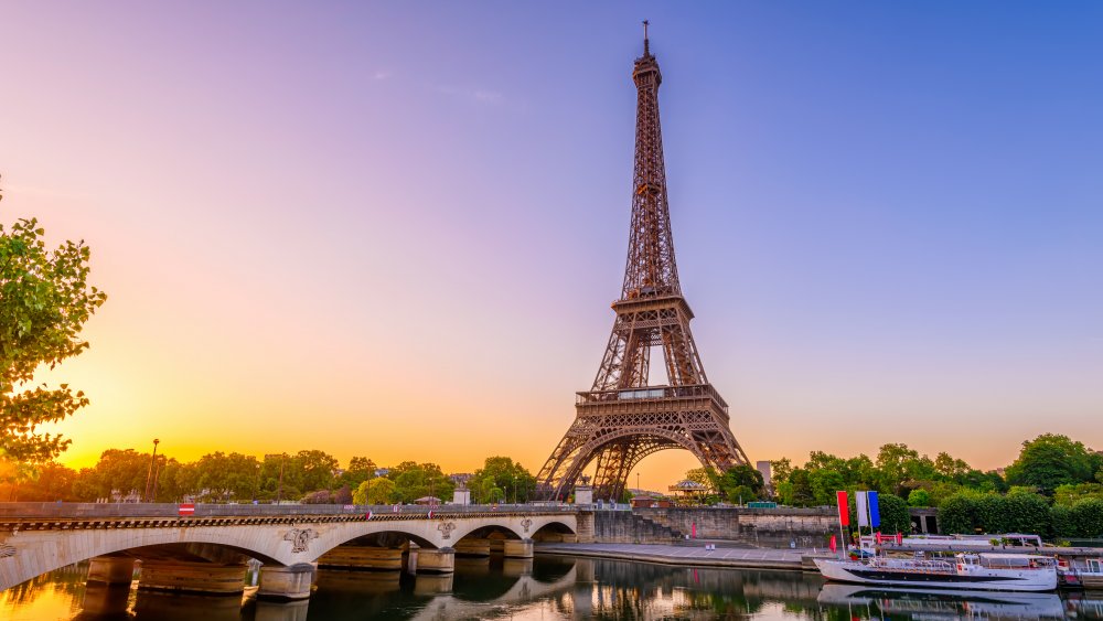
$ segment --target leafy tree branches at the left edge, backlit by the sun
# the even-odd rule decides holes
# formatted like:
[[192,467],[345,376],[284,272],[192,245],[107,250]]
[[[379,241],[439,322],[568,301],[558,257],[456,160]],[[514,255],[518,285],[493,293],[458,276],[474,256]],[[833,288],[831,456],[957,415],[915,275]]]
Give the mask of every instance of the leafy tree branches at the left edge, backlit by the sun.
[[39,427],[88,405],[68,384],[28,389],[34,373],[88,347],[78,335],[107,296],[88,285],[90,250],[65,242],[47,250],[38,221],[0,225],[0,458],[49,461],[68,447]]

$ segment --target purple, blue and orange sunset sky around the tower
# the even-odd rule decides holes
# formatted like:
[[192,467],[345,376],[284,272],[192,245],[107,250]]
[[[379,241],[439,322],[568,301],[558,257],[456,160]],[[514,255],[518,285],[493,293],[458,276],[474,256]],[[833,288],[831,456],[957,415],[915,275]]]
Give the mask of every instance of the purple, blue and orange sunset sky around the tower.
[[85,239],[109,296],[41,375],[92,399],[52,428],[71,465],[159,438],[538,470],[612,325],[642,19],[682,288],[751,460],[1103,449],[1097,2],[2,12],[0,222]]

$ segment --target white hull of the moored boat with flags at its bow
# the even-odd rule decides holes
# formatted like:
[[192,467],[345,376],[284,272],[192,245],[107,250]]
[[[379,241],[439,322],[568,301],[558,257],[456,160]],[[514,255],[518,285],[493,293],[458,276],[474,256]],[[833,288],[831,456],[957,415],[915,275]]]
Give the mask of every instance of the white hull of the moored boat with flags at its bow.
[[936,571],[902,567],[877,567],[849,560],[817,558],[824,578],[856,585],[880,585],[924,589],[968,589],[988,591],[1052,591],[1057,569],[990,569],[968,567],[964,571]]

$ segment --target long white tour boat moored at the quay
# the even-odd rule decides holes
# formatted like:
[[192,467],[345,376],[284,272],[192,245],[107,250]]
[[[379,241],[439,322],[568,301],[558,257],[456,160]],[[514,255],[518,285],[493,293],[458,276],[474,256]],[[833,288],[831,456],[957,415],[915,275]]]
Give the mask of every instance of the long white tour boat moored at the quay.
[[859,585],[981,589],[990,591],[1052,591],[1057,564],[1047,556],[1026,554],[959,554],[953,560],[876,556],[865,560],[817,558],[824,578]]

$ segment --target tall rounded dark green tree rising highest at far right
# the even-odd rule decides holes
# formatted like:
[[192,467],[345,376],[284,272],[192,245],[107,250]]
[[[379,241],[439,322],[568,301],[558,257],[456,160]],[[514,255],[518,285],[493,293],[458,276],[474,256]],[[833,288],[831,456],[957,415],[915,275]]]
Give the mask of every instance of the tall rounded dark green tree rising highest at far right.
[[1100,459],[1068,436],[1043,433],[1022,442],[1018,459],[1007,468],[1007,482],[1035,486],[1051,496],[1060,485],[1092,481]]

